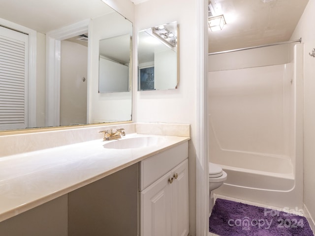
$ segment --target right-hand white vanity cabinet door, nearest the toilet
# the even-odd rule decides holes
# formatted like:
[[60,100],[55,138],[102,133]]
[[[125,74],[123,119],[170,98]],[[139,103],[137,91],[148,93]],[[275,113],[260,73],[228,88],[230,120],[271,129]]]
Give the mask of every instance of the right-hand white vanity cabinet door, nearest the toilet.
[[[188,202],[188,160],[181,163],[173,171],[173,236],[187,236],[189,233]],[[176,178],[177,174],[177,178]]]

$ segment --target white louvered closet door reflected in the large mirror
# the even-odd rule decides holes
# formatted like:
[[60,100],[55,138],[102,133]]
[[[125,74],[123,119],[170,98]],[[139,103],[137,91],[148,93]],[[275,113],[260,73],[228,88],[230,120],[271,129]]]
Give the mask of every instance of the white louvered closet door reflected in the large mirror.
[[28,35],[0,27],[0,130],[28,124]]

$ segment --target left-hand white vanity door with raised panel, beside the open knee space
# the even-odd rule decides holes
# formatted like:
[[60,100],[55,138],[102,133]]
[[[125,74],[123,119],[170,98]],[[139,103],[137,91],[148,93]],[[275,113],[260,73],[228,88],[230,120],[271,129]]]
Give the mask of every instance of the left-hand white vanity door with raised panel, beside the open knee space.
[[140,192],[140,235],[171,236],[172,184],[168,176]]

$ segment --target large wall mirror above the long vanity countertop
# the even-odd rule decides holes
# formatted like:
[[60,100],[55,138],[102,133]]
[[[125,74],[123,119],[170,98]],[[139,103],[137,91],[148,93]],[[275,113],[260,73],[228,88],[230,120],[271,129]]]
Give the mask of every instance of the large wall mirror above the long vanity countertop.
[[[131,120],[132,23],[124,16],[101,0],[10,0],[0,7],[0,37],[10,38],[5,30],[27,33],[29,60],[13,79],[20,72],[0,69],[0,130]],[[100,59],[124,67],[124,80],[121,68],[106,71]],[[101,77],[111,86],[99,87]]]

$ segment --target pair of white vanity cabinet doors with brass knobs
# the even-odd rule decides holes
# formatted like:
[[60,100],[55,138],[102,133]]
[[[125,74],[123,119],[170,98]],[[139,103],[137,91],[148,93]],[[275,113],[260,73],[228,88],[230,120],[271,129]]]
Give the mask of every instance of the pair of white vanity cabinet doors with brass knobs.
[[187,236],[188,233],[186,159],[140,192],[140,236]]

